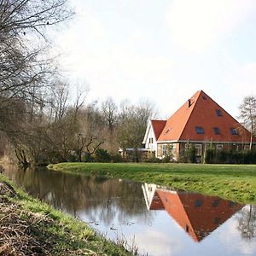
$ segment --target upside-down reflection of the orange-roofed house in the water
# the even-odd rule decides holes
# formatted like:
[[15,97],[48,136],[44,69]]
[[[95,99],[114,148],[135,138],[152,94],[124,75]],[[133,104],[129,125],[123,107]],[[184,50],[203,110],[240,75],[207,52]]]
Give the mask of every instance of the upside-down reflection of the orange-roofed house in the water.
[[217,196],[164,189],[143,184],[148,210],[166,210],[194,241],[199,242],[243,206]]

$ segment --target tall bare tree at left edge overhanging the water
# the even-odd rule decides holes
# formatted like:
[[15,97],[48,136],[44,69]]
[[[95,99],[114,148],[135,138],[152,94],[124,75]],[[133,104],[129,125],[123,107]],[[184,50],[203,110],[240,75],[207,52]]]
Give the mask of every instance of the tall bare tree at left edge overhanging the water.
[[43,98],[55,86],[47,30],[72,15],[67,0],[0,1],[0,131],[25,163],[38,158]]

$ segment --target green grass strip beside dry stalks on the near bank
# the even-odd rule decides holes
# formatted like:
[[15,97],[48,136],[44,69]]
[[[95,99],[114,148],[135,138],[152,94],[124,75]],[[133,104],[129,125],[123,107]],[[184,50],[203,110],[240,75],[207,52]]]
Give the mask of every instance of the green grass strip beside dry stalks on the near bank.
[[[29,222],[29,218],[33,216],[42,218],[42,221],[38,221],[36,228],[32,229],[33,223],[28,224],[28,227],[34,230],[32,236],[36,236],[38,241],[49,241],[54,245],[49,255],[131,255],[123,247],[96,234],[96,231],[84,222],[71,218],[27,195],[0,174],[0,182],[3,181],[11,184],[17,193],[16,197],[0,195],[2,201],[4,197],[5,205],[6,201],[8,202],[8,207],[5,209],[14,209],[14,214],[20,218],[20,221]],[[0,207],[3,207],[3,204],[0,203]],[[0,212],[0,219],[8,217],[4,217],[4,214]],[[0,254],[1,247],[6,243],[8,241],[0,241]]]

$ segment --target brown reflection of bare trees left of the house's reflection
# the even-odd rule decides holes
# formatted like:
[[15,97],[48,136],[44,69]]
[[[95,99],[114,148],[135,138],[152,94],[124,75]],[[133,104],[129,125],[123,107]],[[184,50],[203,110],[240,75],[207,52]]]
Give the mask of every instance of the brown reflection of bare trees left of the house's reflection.
[[91,222],[100,220],[109,225],[113,219],[123,224],[130,217],[149,223],[154,215],[147,211],[140,183],[71,175],[45,168],[17,172],[10,166],[6,174],[30,195],[76,218],[86,214]]

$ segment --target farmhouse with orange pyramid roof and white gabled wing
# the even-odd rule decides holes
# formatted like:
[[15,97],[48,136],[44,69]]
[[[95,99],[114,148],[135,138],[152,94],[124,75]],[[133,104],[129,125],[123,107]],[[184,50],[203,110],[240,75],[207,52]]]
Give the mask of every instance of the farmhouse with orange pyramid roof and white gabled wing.
[[[201,162],[211,145],[222,148],[249,149],[251,133],[210,96],[199,90],[167,120],[150,120],[143,139],[148,152],[157,158],[172,155],[178,160],[189,144]],[[253,147],[256,140],[253,138]]]

